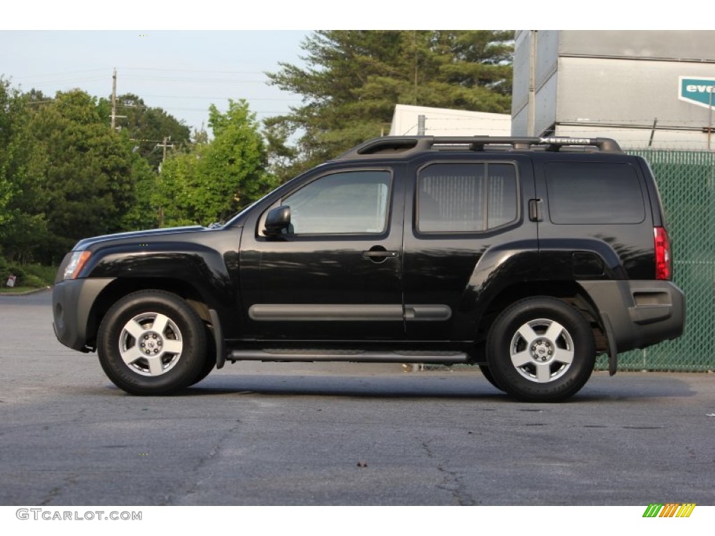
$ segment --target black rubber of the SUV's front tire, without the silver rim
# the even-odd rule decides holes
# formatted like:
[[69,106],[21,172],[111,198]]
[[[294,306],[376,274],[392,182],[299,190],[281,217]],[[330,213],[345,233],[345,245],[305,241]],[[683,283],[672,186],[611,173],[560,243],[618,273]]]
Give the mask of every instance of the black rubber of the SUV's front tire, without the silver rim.
[[[142,313],[165,314],[182,334],[177,363],[159,376],[134,372],[119,354],[119,339],[130,319]],[[181,298],[169,292],[140,291],[122,298],[102,319],[97,352],[102,369],[117,387],[130,394],[172,394],[187,387],[202,372],[206,359],[206,334],[201,319]]]

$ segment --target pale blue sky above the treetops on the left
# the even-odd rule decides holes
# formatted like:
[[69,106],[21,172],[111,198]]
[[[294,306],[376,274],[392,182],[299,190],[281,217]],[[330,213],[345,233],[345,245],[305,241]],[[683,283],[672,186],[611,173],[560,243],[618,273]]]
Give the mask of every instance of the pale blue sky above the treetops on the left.
[[193,130],[207,123],[210,104],[225,111],[229,99],[246,99],[257,119],[300,106],[300,96],[268,85],[265,72],[279,71],[279,62],[302,66],[310,33],[0,30],[0,74],[21,91],[79,88],[109,98],[117,69],[117,95],[136,94]]

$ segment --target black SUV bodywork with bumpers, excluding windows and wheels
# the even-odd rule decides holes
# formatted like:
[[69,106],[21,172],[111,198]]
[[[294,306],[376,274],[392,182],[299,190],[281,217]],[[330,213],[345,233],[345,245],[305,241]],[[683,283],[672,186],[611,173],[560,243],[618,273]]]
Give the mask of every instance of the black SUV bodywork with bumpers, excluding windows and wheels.
[[[640,222],[552,221],[548,166],[583,159],[633,169],[642,194]],[[516,219],[485,232],[420,233],[415,177],[435,162],[513,167]],[[267,212],[305,184],[364,169],[390,174],[384,232],[264,232]],[[74,250],[89,250],[92,257],[77,279],[58,277],[55,330],[63,344],[92,350],[103,314],[119,297],[133,290],[167,289],[187,299],[205,322],[211,321],[209,312],[217,314],[220,364],[233,351],[270,347],[431,349],[464,352],[467,361],[483,362],[480,343],[495,315],[516,299],[550,295],[578,304],[590,315],[593,329],[603,335],[599,351],[608,351],[606,341],[611,340],[611,351],[620,352],[682,331],[679,289],[654,280],[654,227],[663,225],[647,165],[620,152],[455,150],[346,157],[284,184],[222,227],[78,242]],[[606,288],[608,292],[601,292]],[[629,312],[638,308],[632,288],[666,294],[667,318],[638,324]]]

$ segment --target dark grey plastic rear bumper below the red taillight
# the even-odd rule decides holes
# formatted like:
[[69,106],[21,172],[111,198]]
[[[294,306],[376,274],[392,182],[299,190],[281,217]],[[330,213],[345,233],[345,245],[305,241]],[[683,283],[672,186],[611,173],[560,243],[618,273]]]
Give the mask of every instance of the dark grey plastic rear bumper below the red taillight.
[[685,327],[685,297],[670,281],[580,281],[596,304],[611,355],[676,339]]

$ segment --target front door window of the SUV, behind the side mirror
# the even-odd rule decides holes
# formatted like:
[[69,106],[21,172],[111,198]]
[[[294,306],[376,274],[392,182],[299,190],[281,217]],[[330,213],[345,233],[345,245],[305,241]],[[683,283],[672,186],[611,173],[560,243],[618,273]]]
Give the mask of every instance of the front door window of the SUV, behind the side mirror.
[[390,172],[321,177],[283,199],[290,234],[382,234],[387,228]]

